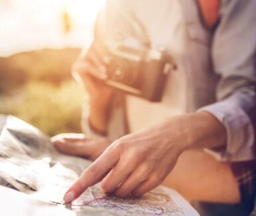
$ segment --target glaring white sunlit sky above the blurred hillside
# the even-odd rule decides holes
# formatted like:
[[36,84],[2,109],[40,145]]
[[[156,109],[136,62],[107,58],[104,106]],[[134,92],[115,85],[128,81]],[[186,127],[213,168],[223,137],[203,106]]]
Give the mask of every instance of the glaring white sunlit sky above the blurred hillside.
[[0,56],[41,48],[88,46],[96,15],[105,1],[0,1]]

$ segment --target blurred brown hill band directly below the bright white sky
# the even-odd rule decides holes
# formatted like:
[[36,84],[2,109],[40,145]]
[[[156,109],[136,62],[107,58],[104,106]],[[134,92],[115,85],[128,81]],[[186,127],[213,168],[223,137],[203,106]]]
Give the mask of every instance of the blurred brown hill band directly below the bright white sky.
[[8,93],[31,80],[60,85],[70,80],[70,67],[80,49],[38,50],[0,58],[0,94]]

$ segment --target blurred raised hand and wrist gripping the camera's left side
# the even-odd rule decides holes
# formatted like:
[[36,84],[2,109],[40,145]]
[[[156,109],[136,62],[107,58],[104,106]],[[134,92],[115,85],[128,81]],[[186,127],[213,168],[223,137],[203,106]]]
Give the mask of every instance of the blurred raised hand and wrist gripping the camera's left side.
[[78,83],[84,85],[90,95],[90,124],[98,131],[106,131],[107,110],[113,90],[104,83],[108,56],[93,42],[90,49],[82,52],[72,66],[72,74]]

